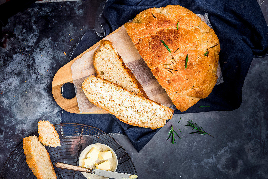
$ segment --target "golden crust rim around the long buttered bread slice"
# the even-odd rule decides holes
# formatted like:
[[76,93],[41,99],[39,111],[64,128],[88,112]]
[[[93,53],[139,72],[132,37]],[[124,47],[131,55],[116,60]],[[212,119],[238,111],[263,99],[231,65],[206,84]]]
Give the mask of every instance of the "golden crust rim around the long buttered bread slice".
[[[120,116],[118,116],[116,113],[112,112],[112,111],[111,111],[109,108],[107,108],[106,106],[101,106],[101,105],[99,105],[98,103],[95,103],[94,101],[92,101],[91,98],[87,95],[87,92],[85,92],[85,85],[86,85],[87,81],[91,80],[92,78],[93,78],[93,80],[94,80],[95,77],[97,77],[97,78],[99,78],[99,79],[101,79],[101,80],[104,80],[106,83],[109,83],[109,84],[111,84],[111,85],[115,85],[115,86],[121,88],[122,90],[127,91],[127,92],[130,93],[130,94],[133,94],[133,95],[135,95],[135,96],[139,96],[139,98],[141,98],[141,99],[148,100],[148,101],[150,101],[151,103],[156,103],[157,105],[160,105],[160,106],[162,106],[162,107],[164,107],[164,108],[170,110],[170,111],[172,112],[172,115],[169,117],[169,119],[172,118],[173,113],[174,113],[174,110],[172,110],[172,109],[170,109],[170,108],[168,108],[168,107],[166,107],[166,106],[164,106],[164,105],[161,105],[160,103],[157,103],[157,102],[155,102],[155,101],[152,101],[151,99],[147,99],[147,98],[145,98],[144,96],[137,95],[137,94],[134,93],[134,92],[128,91],[128,90],[126,90],[125,88],[121,87],[120,85],[117,85],[117,84],[115,84],[115,83],[112,83],[112,82],[110,82],[110,81],[108,81],[108,80],[106,80],[106,79],[104,79],[104,78],[101,78],[101,77],[98,77],[98,76],[93,76],[93,75],[92,75],[92,76],[89,76],[89,77],[84,81],[84,83],[83,83],[82,86],[81,86],[81,88],[82,88],[82,90],[84,91],[85,95],[87,96],[88,100],[89,100],[92,104],[98,106],[99,108],[102,108],[102,109],[106,110],[107,112],[113,114],[113,115],[116,116],[116,118],[119,119],[120,121],[122,121],[122,122],[124,122],[124,123],[126,123],[126,124],[129,124],[129,125],[132,125],[132,126],[133,126],[132,123],[129,123],[128,121],[125,121],[125,120],[121,119]],[[166,122],[160,124],[159,127],[163,127],[163,126],[165,126],[165,124],[166,124]],[[139,127],[148,127],[148,126],[139,125]],[[150,128],[151,128],[152,130],[154,130],[154,129],[157,129],[157,128],[159,128],[159,127],[156,127],[156,128],[154,128],[154,127],[150,127]]]

